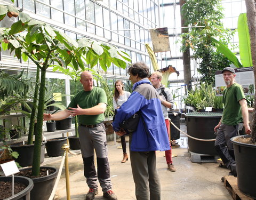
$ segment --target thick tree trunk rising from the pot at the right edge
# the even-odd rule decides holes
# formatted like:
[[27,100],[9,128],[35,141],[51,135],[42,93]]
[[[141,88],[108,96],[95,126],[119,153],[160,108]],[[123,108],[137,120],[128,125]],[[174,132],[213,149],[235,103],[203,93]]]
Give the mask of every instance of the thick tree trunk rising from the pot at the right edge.
[[[252,54],[252,65],[254,73],[254,86],[256,85],[256,7],[255,0],[245,0],[246,10],[247,10],[247,22],[249,27],[249,34],[251,40],[251,54]],[[252,127],[252,137],[250,142],[256,142],[256,93],[254,89],[254,114],[253,114],[253,127]]]

